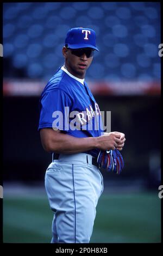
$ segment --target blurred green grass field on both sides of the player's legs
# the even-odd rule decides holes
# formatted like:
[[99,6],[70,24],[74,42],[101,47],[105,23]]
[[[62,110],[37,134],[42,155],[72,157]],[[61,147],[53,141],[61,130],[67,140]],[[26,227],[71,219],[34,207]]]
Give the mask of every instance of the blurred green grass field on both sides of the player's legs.
[[[49,243],[52,217],[46,196],[5,196],[3,242]],[[90,242],[161,242],[161,200],[158,194],[103,193]]]

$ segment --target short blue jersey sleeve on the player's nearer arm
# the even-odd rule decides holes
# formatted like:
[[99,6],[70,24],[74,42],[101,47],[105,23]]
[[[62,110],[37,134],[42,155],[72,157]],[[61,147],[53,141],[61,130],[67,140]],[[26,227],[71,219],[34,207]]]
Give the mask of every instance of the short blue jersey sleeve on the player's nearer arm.
[[69,112],[71,99],[60,89],[51,90],[40,100],[39,128],[53,128],[54,130],[69,130]]

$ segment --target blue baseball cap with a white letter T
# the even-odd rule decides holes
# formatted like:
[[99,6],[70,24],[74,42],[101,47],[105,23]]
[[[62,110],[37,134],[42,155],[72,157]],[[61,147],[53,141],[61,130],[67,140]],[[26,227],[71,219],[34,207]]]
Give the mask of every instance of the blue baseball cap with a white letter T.
[[89,47],[99,51],[96,47],[96,33],[91,28],[71,28],[67,32],[65,46],[71,49]]

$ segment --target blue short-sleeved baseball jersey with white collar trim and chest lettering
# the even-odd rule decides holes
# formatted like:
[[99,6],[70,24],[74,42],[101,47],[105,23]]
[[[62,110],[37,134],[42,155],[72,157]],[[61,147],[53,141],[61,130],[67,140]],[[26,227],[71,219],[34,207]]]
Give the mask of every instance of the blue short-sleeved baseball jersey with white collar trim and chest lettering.
[[[89,87],[61,68],[49,80],[40,97],[38,130],[47,127],[78,138],[103,135],[101,112]],[[84,153],[96,156],[97,150]]]

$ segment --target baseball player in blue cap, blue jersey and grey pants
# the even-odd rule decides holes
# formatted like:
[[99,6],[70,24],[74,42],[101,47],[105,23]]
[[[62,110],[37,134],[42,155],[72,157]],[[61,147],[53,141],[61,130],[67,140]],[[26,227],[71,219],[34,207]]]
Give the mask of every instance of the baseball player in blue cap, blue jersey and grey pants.
[[126,140],[124,133],[103,132],[101,112],[85,82],[94,51],[99,51],[95,31],[70,29],[62,48],[65,63],[40,97],[41,142],[52,153],[45,174],[54,212],[52,243],[89,243],[103,192],[97,156],[104,150],[121,151]]

